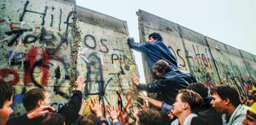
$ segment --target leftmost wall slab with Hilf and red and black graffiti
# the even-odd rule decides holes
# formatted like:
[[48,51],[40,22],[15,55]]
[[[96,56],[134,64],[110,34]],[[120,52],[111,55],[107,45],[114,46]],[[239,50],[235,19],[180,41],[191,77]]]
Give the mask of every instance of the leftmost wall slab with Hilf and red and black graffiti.
[[65,1],[1,0],[0,79],[16,88],[15,115],[25,113],[22,96],[31,88],[46,88],[56,109],[68,101],[74,7]]

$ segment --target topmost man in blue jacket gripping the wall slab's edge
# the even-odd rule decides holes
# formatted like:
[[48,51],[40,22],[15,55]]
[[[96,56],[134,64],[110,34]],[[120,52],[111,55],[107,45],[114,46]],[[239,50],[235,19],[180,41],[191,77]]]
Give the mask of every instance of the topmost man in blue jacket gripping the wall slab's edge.
[[153,65],[158,60],[165,60],[171,69],[177,69],[177,60],[163,43],[162,36],[159,33],[152,33],[148,39],[145,43],[136,43],[133,38],[128,38],[127,41],[130,48],[147,55],[147,65],[152,73]]

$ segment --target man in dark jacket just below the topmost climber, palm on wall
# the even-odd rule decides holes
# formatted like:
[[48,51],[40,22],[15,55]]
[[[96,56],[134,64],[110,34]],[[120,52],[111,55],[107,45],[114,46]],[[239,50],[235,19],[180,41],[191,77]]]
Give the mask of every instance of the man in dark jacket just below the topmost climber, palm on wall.
[[[175,96],[180,89],[197,82],[195,77],[186,71],[172,70],[165,60],[158,60],[153,66],[153,71],[156,79],[150,84],[139,83],[139,77],[134,73],[132,73],[132,80],[141,90],[150,93],[156,92],[156,99],[168,105],[174,103]],[[155,106],[158,107],[157,105]]]

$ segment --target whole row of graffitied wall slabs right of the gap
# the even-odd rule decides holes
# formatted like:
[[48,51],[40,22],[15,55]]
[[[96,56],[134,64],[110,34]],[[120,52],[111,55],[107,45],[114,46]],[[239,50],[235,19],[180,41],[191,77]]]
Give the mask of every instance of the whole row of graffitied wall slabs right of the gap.
[[[198,82],[210,87],[228,84],[237,88],[242,96],[256,84],[255,55],[142,10],[137,15],[141,43],[150,33],[160,33],[176,56],[178,67],[193,73]],[[144,61],[145,74],[150,74],[146,64]],[[145,77],[147,82],[152,80],[148,75]]]

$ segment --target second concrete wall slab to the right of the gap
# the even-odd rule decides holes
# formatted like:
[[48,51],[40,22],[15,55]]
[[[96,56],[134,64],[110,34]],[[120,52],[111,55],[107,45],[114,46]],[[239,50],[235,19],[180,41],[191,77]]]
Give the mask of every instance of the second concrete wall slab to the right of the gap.
[[219,84],[218,73],[205,37],[183,26],[180,26],[180,34],[184,41],[190,73],[193,73],[197,81],[203,84],[209,86]]

